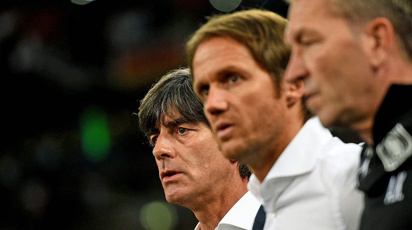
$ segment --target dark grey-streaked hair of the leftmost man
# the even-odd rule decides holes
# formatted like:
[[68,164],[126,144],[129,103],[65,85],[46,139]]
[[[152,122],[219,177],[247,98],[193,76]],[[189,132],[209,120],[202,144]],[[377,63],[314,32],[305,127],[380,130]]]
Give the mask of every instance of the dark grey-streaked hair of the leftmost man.
[[[158,125],[165,125],[166,117],[172,121],[209,125],[203,105],[193,91],[189,68],[172,70],[164,75],[140,102],[139,126],[148,139],[158,131]],[[241,177],[248,178],[251,174],[248,167],[238,165]]]

